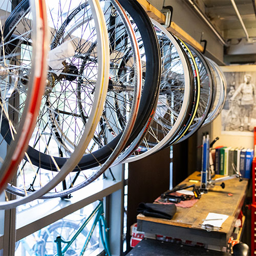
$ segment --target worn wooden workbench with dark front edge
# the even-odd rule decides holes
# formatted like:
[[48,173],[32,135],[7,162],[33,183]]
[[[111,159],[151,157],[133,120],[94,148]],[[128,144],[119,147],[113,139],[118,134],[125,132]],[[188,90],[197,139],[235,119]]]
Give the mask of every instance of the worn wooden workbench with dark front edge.
[[[199,172],[195,172],[182,183],[200,186],[199,175]],[[193,180],[198,181],[198,183],[191,182]],[[139,214],[137,216],[138,230],[214,246],[226,246],[244,203],[248,180],[244,179],[240,182],[239,179],[231,179],[224,183],[224,189],[215,185],[207,194],[203,194],[193,207],[177,207],[177,212],[172,220],[145,217]],[[232,196],[228,196],[229,193]],[[209,212],[229,216],[222,224],[220,231],[209,232],[200,227],[199,224],[202,224],[202,220],[206,219]]]

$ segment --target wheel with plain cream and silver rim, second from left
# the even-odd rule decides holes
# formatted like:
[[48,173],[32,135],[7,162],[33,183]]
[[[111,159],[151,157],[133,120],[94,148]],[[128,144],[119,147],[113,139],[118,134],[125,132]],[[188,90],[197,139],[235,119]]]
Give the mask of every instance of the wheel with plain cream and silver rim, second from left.
[[[54,159],[52,155],[56,154],[55,148],[58,151],[58,146],[54,144],[56,143],[56,141],[54,142],[54,140],[51,140],[52,133],[54,132],[53,130],[54,125],[50,125],[50,128],[48,125],[48,122],[49,123],[51,122],[51,120],[48,120],[48,114],[49,114],[48,109],[51,107],[52,110],[55,110],[55,113],[57,115],[60,115],[60,114],[62,115],[60,118],[62,118],[63,123],[65,125],[72,123],[73,128],[78,129],[79,133],[75,134],[77,137],[75,137],[75,139],[72,138],[76,142],[76,147],[74,151],[71,152],[72,154],[69,156],[69,158],[66,158],[65,161],[63,161],[63,164],[61,165],[61,167],[58,166],[56,161],[54,160],[52,161],[53,166],[59,171],[54,179],[51,179],[49,183],[47,183],[44,186],[41,186],[39,190],[36,190],[34,193],[29,195],[27,194],[27,191],[26,191],[27,188],[24,186],[24,193],[26,197],[1,203],[0,208],[1,207],[11,208],[19,204],[36,199],[44,195],[45,193],[47,193],[55,185],[57,185],[60,181],[62,181],[67,176],[67,174],[76,166],[76,163],[79,162],[81,156],[83,155],[83,152],[85,151],[91,138],[94,135],[94,130],[100,119],[106,92],[108,91],[108,82],[109,82],[109,79],[108,79],[109,65],[107,65],[107,63],[109,63],[109,47],[108,47],[108,36],[106,33],[107,30],[104,22],[104,16],[103,16],[102,10],[100,9],[100,4],[98,1],[91,1],[91,0],[88,2],[82,1],[80,2],[81,4],[80,6],[82,6],[83,8],[81,8],[80,10],[76,8],[77,3],[73,3],[73,5],[71,5],[71,2],[69,3],[70,3],[69,6],[59,5],[57,7],[57,10],[59,10],[59,12],[55,12],[55,13],[51,12],[51,20],[52,22],[54,22],[54,20],[56,21],[56,26],[53,26],[50,24],[50,27],[52,31],[59,32],[56,34],[57,36],[60,36],[62,38],[60,48],[57,47],[55,49],[59,51],[60,49],[62,49],[62,47],[64,46],[67,47],[67,45],[65,45],[65,41],[66,41],[68,44],[69,50],[70,48],[72,50],[72,45],[70,46],[69,44],[74,44],[76,46],[75,52],[74,50],[72,50],[71,53],[70,52],[67,53],[69,54],[69,56],[66,55],[66,52],[64,56],[63,55],[60,56],[57,54],[56,60],[60,59],[62,61],[60,63],[62,66],[58,66],[59,63],[57,63],[58,65],[54,63],[56,66],[53,67],[54,65],[51,63],[52,68],[49,72],[48,88],[45,92],[45,97],[43,99],[46,104],[41,106],[38,123],[37,123],[37,129],[35,130],[33,140],[31,140],[30,143],[33,143],[33,145],[37,146],[37,149],[39,151],[42,150],[45,154],[48,153],[48,156],[50,156],[51,159]],[[53,8],[53,6],[51,6],[51,8]],[[53,9],[51,9],[51,11],[52,10]],[[66,15],[68,16],[70,13],[72,13],[72,15],[74,16],[78,15],[77,19],[73,19],[72,20],[73,23],[72,22],[66,23],[64,26],[62,26],[63,23],[61,24],[58,23],[58,21],[61,20],[61,18],[63,18],[62,16],[58,18],[59,14],[62,15],[62,10],[67,10],[68,12],[66,13]],[[76,23],[79,21],[79,19],[84,20],[84,17],[86,17],[85,20],[87,21],[87,26],[83,23],[79,23],[81,27],[76,27]],[[59,25],[61,25],[62,27],[59,28]],[[72,31],[72,33],[65,34],[65,32],[67,31],[66,28],[68,28],[68,26],[70,28],[70,30],[68,31]],[[87,30],[87,31],[84,31],[84,30]],[[56,39],[56,37],[54,39]],[[87,44],[85,44],[85,41],[81,39],[86,39]],[[60,39],[58,40],[60,41]],[[90,45],[94,44],[96,40],[97,40],[97,48],[96,48],[97,50],[91,52]],[[88,113],[87,125],[81,131],[79,130],[80,121],[77,119],[78,115],[75,113],[75,111],[78,111],[78,107],[77,107],[77,104],[74,103],[74,102],[77,102],[77,97],[76,97],[76,90],[73,90],[72,83],[76,84],[76,82],[74,82],[75,79],[73,79],[73,76],[76,73],[76,71],[74,71],[74,67],[72,67],[73,66],[72,63],[76,63],[76,65],[78,65],[80,63],[79,61],[80,61],[81,55],[84,54],[86,56],[87,52],[90,55],[93,54],[94,60],[93,60],[93,63],[90,62],[92,63],[91,66],[88,63],[86,68],[83,70],[84,72],[82,74],[79,74],[80,75],[79,77],[85,76],[85,79],[88,80],[88,84],[87,84],[88,86],[86,89],[90,90],[90,92],[93,92],[93,94],[87,95],[88,96],[87,100],[90,99],[90,102],[89,104],[87,104],[87,107],[90,107],[90,109],[87,110],[87,113]],[[54,54],[56,56],[56,51],[54,52]],[[69,62],[70,60],[75,62]],[[97,62],[97,66],[95,66],[95,62]],[[68,73],[67,73],[67,69],[68,69]],[[89,84],[91,84],[92,86],[90,87]],[[49,106],[49,97],[56,98],[56,100],[50,101],[52,103],[52,105],[50,106]],[[55,103],[57,104],[58,111],[54,109],[56,108],[56,105],[54,105]],[[87,102],[84,102],[84,104],[86,103]],[[66,121],[66,116],[64,115],[68,116],[67,121]],[[63,124],[63,127],[64,127],[64,124]],[[38,141],[40,141],[40,143],[38,143]],[[50,144],[49,141],[51,141],[53,144]],[[55,152],[53,153],[54,150]],[[28,165],[27,166],[28,172],[32,171],[32,173],[35,172],[36,174],[38,174],[39,172],[44,173],[44,170],[41,168],[41,166],[37,170],[33,167],[33,165],[31,164],[31,158],[30,158],[31,156],[32,155],[30,155],[30,149],[29,149],[27,151],[26,160],[23,160],[23,161],[27,161],[26,163]],[[34,157],[40,160],[40,156],[35,155]],[[26,170],[26,166],[25,167],[23,166],[23,170]],[[23,181],[23,185],[25,184],[24,182],[25,182],[25,179]]]

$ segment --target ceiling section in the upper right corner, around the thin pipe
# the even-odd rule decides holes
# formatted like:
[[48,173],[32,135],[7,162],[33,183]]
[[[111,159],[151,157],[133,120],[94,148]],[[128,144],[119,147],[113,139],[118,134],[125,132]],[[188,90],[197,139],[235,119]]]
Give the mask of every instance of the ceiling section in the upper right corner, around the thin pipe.
[[234,0],[249,40],[231,0],[194,0],[193,2],[227,42],[226,61],[229,59],[229,63],[256,63],[256,0]]

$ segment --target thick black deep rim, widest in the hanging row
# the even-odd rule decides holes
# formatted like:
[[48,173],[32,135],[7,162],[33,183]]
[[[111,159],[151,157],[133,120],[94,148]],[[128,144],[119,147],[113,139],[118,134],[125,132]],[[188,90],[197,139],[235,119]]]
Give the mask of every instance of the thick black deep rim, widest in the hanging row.
[[[29,2],[29,0],[23,0],[23,2],[26,1]],[[129,141],[126,144],[128,146],[134,141],[134,139],[137,138],[145,124],[149,119],[151,119],[151,114],[155,107],[155,102],[157,101],[159,93],[161,60],[155,30],[144,9],[139,5],[139,3],[137,3],[137,1],[121,0],[119,2],[122,7],[132,16],[141,34],[142,40],[146,42],[144,43],[144,48],[147,56],[145,87],[141,95],[140,108],[138,111],[135,128],[133,129]],[[12,22],[12,20],[9,22]],[[121,134],[122,133],[117,135],[117,137],[114,138],[109,144],[103,146],[98,151],[84,155],[77,167],[74,168],[73,172],[96,167],[99,164],[104,163],[104,161],[108,159],[112,153],[112,149],[115,148],[116,144],[118,143]],[[53,157],[53,161],[51,156],[45,155],[44,153],[35,150],[31,146],[28,147],[27,154],[34,165],[56,172],[58,169],[55,166],[54,161],[57,163],[59,168],[61,168],[61,166],[67,161],[67,158],[61,157]],[[40,163],[38,163],[38,159],[40,159]]]

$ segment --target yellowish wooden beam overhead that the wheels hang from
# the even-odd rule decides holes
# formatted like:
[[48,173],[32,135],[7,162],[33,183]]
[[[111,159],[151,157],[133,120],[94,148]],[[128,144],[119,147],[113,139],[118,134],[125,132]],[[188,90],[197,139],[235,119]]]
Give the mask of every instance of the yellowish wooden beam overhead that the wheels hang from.
[[[152,4],[150,4],[147,0],[137,0],[137,2],[144,8],[148,16],[155,19],[160,24],[165,23],[165,15]],[[176,23],[172,22],[167,30],[177,35],[180,37],[180,39],[187,42],[191,46],[195,47],[198,51],[203,52],[203,46],[201,46],[197,40],[195,40],[192,36],[180,28]]]

